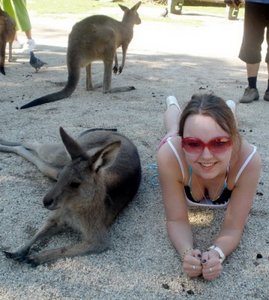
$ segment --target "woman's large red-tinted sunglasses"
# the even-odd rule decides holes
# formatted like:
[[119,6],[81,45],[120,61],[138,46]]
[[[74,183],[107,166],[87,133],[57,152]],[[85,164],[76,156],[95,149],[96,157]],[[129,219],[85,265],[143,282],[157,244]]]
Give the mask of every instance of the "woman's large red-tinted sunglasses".
[[190,154],[201,154],[205,147],[212,153],[222,153],[232,146],[232,140],[227,136],[218,136],[207,143],[198,138],[185,137],[181,140],[182,148]]

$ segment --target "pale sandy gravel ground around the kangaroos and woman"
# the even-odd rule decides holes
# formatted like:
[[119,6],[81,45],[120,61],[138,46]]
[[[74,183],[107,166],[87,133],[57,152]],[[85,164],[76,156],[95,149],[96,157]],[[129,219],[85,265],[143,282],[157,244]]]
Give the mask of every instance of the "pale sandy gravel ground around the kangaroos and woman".
[[[105,11],[110,13],[110,11]],[[117,18],[121,11],[116,8]],[[148,14],[160,20],[159,9]],[[85,13],[89,15],[90,12]],[[92,127],[117,128],[137,145],[143,179],[137,197],[111,228],[110,249],[99,255],[68,258],[31,268],[0,256],[0,299],[269,299],[268,213],[268,103],[238,105],[243,136],[258,146],[263,173],[257,196],[238,249],[213,281],[190,280],[181,268],[165,229],[165,217],[156,178],[156,145],[164,134],[165,98],[181,103],[199,91],[214,91],[238,101],[246,85],[244,64],[237,58],[243,22],[216,16],[184,14],[175,22],[147,22],[135,27],[123,73],[112,85],[134,85],[129,93],[103,95],[85,90],[85,72],[69,99],[18,111],[15,107],[60,89],[67,78],[65,53],[72,25],[84,17],[31,14],[36,55],[48,63],[35,73],[26,54],[15,53],[0,77],[0,136],[11,140],[59,139],[63,126],[76,136]],[[197,22],[193,22],[193,21]],[[22,35],[23,36],[23,35]],[[261,65],[258,87],[263,96],[266,66]],[[96,63],[93,77],[102,79]],[[52,185],[22,158],[0,154],[0,247],[16,249],[32,236],[49,212],[42,197]],[[219,230],[223,212],[190,211],[196,245],[206,248]],[[70,243],[70,234],[55,238],[50,247]],[[47,246],[47,245],[45,245]],[[257,259],[257,254],[262,258]]]

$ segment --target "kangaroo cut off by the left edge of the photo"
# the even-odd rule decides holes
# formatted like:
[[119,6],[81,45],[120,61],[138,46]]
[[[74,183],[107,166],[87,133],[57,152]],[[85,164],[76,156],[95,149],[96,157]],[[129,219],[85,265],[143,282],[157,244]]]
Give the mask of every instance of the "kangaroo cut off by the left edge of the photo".
[[0,7],[0,72],[5,72],[6,44],[9,43],[8,61],[12,60],[12,42],[16,34],[15,21]]

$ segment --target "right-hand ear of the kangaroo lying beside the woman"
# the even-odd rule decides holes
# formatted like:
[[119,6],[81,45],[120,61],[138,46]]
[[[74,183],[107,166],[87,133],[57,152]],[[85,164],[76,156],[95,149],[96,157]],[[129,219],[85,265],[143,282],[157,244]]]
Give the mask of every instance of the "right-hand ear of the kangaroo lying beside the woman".
[[120,145],[120,141],[113,142],[97,151],[92,156],[93,169],[98,171],[100,168],[110,167],[119,153]]

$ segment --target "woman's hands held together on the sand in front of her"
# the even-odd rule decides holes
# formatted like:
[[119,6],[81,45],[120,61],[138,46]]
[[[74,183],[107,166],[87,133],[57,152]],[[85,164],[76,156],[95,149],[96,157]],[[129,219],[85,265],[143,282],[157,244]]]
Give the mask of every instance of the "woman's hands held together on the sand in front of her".
[[189,277],[202,275],[206,280],[213,280],[221,274],[222,264],[215,250],[192,249],[183,257],[183,269]]

